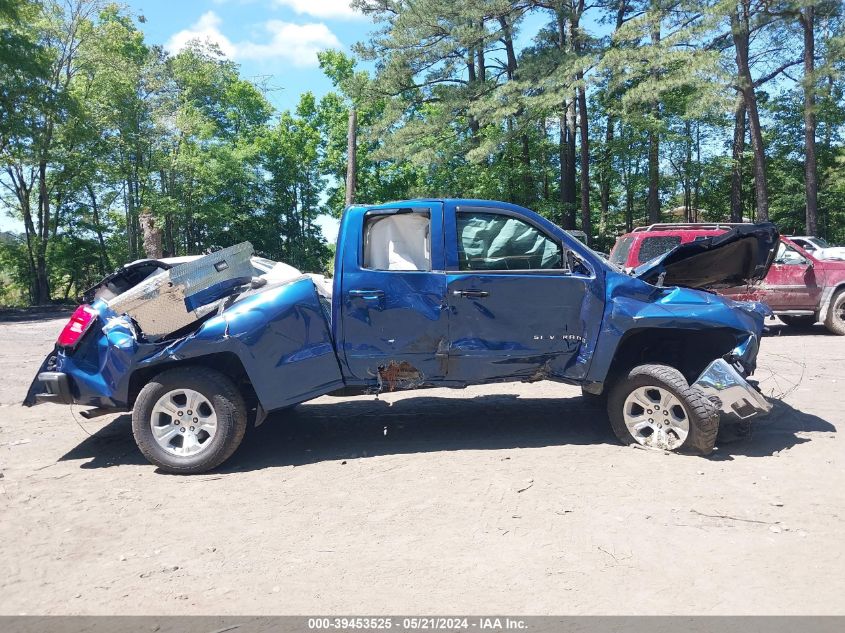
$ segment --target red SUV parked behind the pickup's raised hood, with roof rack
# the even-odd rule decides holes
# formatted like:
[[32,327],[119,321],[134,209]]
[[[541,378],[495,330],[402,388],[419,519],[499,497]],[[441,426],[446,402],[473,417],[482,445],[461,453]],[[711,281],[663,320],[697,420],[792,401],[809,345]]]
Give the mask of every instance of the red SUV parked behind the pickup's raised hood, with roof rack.
[[[719,224],[652,224],[616,240],[610,261],[626,270],[663,255],[680,244],[721,235],[732,227]],[[791,326],[823,321],[834,334],[845,335],[845,261],[819,259],[781,236],[766,278],[753,286],[722,288],[721,294],[768,304]]]

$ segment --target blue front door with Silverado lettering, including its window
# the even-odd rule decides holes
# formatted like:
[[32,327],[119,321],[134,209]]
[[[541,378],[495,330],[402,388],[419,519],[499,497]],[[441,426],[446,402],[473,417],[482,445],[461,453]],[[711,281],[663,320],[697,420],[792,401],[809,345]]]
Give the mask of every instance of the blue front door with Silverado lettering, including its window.
[[601,325],[595,275],[525,215],[457,206],[446,217],[448,380],[581,377],[576,357]]

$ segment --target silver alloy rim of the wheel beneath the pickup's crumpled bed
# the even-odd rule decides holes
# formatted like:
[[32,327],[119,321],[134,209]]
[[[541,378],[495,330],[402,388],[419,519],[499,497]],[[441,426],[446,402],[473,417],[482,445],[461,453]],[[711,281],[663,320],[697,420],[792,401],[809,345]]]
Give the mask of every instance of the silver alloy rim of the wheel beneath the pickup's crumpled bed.
[[153,438],[165,451],[190,457],[211,446],[217,432],[217,414],[199,391],[174,389],[156,402],[150,428]]

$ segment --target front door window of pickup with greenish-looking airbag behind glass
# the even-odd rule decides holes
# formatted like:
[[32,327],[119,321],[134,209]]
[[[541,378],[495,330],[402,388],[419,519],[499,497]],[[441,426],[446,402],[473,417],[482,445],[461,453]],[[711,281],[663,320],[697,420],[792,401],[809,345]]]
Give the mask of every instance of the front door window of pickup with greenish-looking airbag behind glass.
[[460,270],[562,269],[561,245],[540,229],[499,213],[459,211]]

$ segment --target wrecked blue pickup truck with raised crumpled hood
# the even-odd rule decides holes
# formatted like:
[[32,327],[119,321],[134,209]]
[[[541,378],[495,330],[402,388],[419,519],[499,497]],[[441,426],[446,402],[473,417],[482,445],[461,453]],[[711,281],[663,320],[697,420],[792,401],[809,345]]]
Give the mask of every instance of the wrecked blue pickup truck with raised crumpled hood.
[[771,406],[746,380],[767,308],[709,289],[764,277],[777,243],[744,226],[628,275],[512,204],[353,206],[331,284],[261,273],[249,244],[106,278],[25,404],[131,410],[150,462],[198,473],[248,424],[321,395],[553,380],[606,401],[624,443],[707,454],[720,421]]

